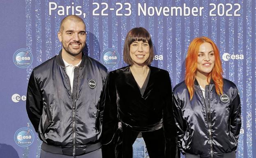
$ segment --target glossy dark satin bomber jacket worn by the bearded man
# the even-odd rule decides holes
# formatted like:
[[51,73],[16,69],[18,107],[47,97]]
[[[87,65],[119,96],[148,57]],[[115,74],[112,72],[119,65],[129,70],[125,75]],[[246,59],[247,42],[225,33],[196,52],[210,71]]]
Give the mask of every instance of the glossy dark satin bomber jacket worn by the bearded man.
[[[83,153],[86,144],[99,142],[104,106],[104,85],[107,69],[83,55],[73,86],[75,102],[76,153]],[[96,87],[89,87],[95,80]],[[76,89],[76,93],[74,93]],[[72,155],[72,95],[61,52],[33,69],[28,83],[27,112],[39,138],[47,144],[61,146]],[[101,120],[101,121],[100,121]]]

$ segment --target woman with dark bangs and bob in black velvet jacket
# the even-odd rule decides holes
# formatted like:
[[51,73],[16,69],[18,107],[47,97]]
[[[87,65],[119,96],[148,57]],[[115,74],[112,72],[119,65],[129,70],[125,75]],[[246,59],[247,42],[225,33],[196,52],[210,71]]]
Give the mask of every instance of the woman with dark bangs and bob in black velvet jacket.
[[134,141],[143,137],[150,158],[175,158],[177,133],[168,71],[150,66],[154,53],[143,27],[130,30],[124,61],[108,75],[103,115],[103,158],[132,158]]

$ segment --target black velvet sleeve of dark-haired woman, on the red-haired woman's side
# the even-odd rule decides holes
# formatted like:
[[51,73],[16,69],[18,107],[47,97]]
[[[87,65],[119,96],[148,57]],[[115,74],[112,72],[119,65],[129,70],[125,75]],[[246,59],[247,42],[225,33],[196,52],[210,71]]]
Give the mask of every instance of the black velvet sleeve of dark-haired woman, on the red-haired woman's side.
[[166,158],[178,158],[177,132],[173,115],[172,87],[169,73],[167,72],[167,96],[165,98],[165,109],[163,112],[164,135],[166,137]]

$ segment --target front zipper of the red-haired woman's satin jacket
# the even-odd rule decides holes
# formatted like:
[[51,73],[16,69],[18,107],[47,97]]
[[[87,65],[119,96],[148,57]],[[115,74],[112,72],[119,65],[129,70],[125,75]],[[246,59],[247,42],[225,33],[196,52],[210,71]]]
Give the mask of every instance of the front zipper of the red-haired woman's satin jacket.
[[[201,91],[202,92],[202,91]],[[206,108],[206,113],[207,113],[207,121],[208,121],[208,132],[209,132],[209,138],[210,138],[210,153],[211,153],[211,158],[213,158],[213,147],[212,147],[212,124],[211,124],[211,111],[210,111],[210,86],[208,86],[208,101],[209,105],[208,107],[206,106],[205,103],[205,98],[203,98],[203,101],[205,103],[205,108]],[[207,110],[208,109],[208,110]]]

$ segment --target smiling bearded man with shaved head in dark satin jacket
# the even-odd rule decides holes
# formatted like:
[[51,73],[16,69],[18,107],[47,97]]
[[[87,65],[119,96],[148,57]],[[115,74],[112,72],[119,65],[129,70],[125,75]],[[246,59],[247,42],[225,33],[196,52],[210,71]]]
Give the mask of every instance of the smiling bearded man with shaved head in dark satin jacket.
[[101,158],[101,124],[107,69],[83,54],[85,23],[65,17],[62,50],[33,69],[26,108],[39,138],[40,158]]

